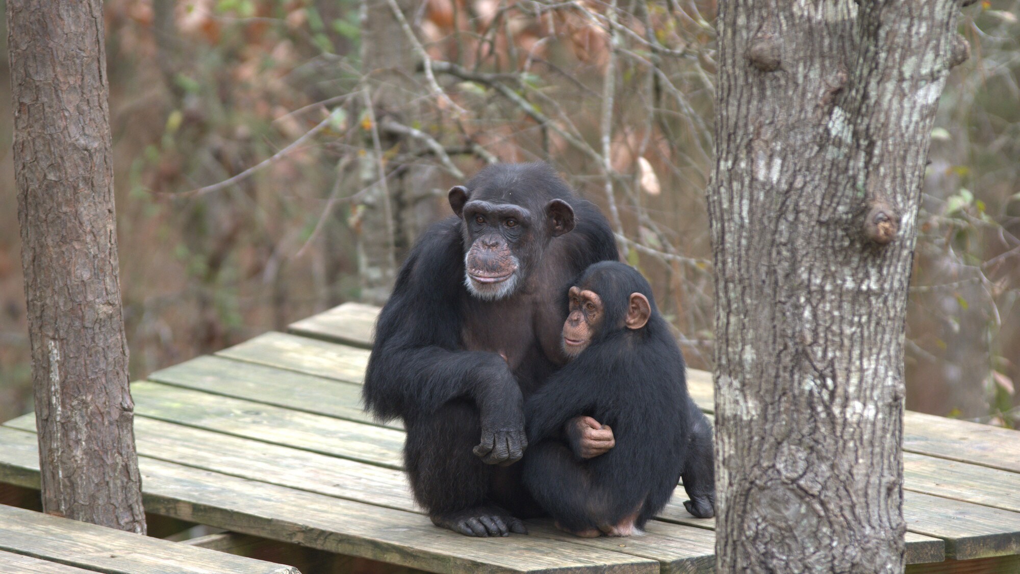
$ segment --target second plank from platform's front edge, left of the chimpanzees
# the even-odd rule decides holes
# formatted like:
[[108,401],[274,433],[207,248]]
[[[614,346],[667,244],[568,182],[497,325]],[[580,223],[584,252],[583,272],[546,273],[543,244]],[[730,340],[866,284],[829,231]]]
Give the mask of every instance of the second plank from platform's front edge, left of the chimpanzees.
[[[33,414],[4,426],[35,432]],[[248,438],[135,419],[140,456],[241,478],[420,513],[404,473]]]

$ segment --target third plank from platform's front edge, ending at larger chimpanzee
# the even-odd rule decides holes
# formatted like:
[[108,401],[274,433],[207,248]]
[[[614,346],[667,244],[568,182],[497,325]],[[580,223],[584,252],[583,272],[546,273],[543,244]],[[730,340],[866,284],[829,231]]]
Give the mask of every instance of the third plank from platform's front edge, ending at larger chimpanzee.
[[394,429],[152,382],[134,383],[132,396],[142,417],[392,469],[403,462],[404,433]]

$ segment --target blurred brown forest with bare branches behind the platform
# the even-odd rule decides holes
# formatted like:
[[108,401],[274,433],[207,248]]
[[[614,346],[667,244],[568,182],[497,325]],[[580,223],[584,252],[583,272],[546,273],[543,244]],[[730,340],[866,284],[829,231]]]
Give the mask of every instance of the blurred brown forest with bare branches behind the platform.
[[[690,365],[711,369],[715,9],[108,0],[133,380],[347,300],[379,302],[414,238],[449,213],[450,186],[487,162],[540,159],[607,213]],[[906,344],[908,409],[1014,428],[1018,14],[1020,0],[991,0],[961,18],[970,59],[931,134]],[[0,421],[32,410],[9,86],[3,53]]]

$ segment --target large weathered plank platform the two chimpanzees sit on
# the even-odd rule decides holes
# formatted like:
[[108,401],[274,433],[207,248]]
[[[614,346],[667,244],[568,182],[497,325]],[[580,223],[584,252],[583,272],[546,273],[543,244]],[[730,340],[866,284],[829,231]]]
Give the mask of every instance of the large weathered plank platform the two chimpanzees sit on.
[[[690,516],[682,489],[641,537],[434,527],[400,470],[401,425],[360,408],[376,312],[341,305],[135,383],[146,510],[434,572],[713,570],[714,521]],[[711,413],[710,375],[690,385]],[[34,431],[32,415],[0,427],[0,481],[38,487]],[[908,413],[905,450],[910,571],[953,571],[947,558],[1020,571],[1020,433]]]

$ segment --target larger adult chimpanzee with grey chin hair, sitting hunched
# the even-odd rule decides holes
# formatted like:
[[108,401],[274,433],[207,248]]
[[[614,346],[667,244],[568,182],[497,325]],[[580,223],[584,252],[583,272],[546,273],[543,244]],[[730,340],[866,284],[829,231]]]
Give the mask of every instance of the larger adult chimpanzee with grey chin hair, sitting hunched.
[[457,217],[418,240],[379,315],[365,405],[403,418],[411,488],[435,524],[524,533],[537,507],[508,466],[527,445],[523,398],[567,361],[570,282],[616,245],[545,163],[487,168],[449,199]]

